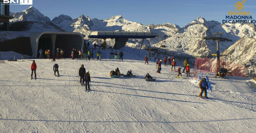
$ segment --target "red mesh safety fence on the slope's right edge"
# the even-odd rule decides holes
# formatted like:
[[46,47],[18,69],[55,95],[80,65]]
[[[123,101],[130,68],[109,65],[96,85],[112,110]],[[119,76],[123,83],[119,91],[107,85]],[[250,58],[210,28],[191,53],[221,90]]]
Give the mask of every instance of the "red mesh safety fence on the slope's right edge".
[[[216,58],[197,58],[195,60],[194,73],[200,72],[217,72],[217,59]],[[226,62],[225,59],[220,60],[220,67],[228,69],[227,75],[246,77],[246,66],[240,64]]]

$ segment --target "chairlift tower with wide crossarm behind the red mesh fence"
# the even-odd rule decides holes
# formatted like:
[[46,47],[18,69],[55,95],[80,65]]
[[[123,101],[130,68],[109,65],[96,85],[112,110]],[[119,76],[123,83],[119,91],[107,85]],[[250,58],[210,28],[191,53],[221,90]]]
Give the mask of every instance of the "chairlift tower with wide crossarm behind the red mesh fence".
[[[216,40],[217,41],[217,72],[219,71],[220,68],[220,48],[219,48],[219,41],[232,41],[228,38],[222,38],[221,34],[223,34],[223,32],[216,32],[213,33],[214,36],[209,36],[209,37],[204,37],[205,40]],[[217,36],[219,34],[219,37]]]

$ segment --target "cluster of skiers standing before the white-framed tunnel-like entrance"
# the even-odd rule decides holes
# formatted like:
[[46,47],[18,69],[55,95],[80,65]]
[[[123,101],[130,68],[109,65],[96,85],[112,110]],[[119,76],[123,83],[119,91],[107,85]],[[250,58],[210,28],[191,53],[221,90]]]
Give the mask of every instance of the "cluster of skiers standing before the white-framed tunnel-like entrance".
[[46,49],[44,52],[42,49],[39,50],[39,59],[43,59],[43,55],[45,59],[51,59],[51,54],[52,54],[52,59],[55,61],[55,59],[63,59],[64,58],[64,51],[62,49],[53,49],[51,52],[50,50]]

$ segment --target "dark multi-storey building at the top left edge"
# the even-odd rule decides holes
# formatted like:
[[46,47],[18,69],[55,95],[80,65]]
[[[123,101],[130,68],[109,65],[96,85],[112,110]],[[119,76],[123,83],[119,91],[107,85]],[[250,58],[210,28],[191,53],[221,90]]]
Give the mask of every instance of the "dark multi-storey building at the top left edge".
[[10,5],[4,5],[4,0],[0,0],[0,31],[9,31]]

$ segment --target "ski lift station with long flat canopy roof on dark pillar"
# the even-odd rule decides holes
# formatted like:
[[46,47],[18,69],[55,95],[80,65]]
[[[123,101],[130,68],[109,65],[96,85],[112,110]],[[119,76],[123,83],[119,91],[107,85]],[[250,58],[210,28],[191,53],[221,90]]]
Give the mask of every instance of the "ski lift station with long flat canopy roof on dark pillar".
[[127,32],[127,31],[93,31],[89,34],[89,38],[100,38],[106,41],[107,38],[115,38],[114,49],[125,47],[129,38],[146,39],[157,37],[156,33],[152,32]]

